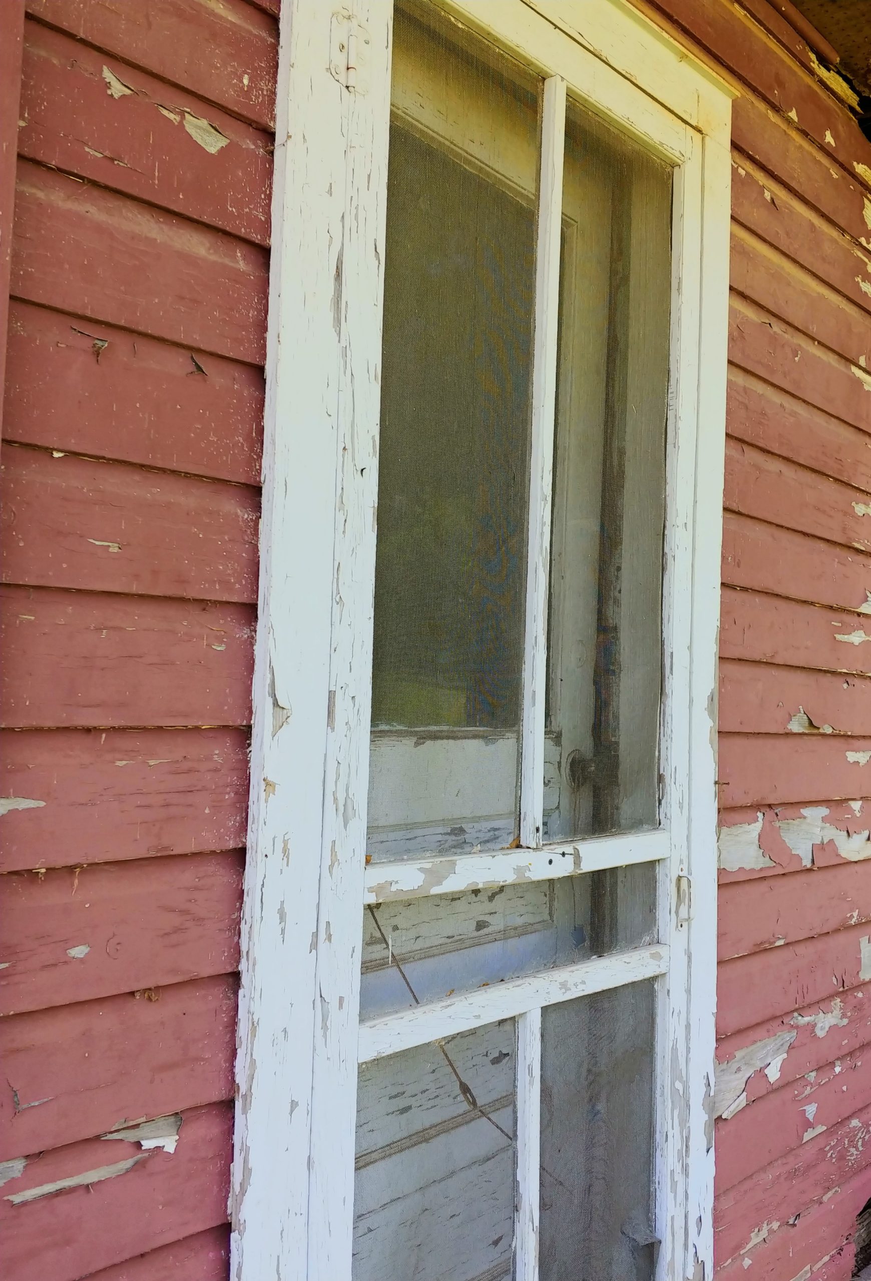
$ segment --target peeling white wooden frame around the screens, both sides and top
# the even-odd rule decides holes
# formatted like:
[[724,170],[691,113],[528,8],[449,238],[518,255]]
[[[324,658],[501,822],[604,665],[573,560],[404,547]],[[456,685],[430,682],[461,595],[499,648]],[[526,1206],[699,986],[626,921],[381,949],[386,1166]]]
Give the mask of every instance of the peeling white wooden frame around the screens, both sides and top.
[[[488,0],[439,4],[492,37]],[[685,839],[661,865],[670,1017],[657,1102],[660,1275],[694,1277],[698,1264],[712,1271],[731,92],[624,0],[503,0],[498,14],[498,44],[567,78],[605,118],[663,154],[662,122],[688,140],[675,201],[669,484],[689,548],[670,623],[689,699],[666,780]],[[281,14],[231,1195],[237,1281],[350,1277],[391,22],[392,0],[359,0],[354,13],[284,0]],[[523,1102],[534,1111],[534,1099]]]

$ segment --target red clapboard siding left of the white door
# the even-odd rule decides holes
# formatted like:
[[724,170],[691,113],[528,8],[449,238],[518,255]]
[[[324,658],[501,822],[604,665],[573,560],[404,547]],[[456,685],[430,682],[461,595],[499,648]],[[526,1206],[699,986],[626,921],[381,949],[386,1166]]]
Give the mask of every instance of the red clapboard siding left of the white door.
[[[4,1276],[220,1281],[277,6],[26,8],[0,290]],[[175,1143],[142,1146],[159,1118]]]

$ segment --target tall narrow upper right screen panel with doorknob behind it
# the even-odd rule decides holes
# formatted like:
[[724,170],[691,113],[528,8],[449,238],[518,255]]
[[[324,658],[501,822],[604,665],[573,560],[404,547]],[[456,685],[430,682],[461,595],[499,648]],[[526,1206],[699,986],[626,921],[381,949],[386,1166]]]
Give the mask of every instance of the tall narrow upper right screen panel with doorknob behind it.
[[658,821],[671,182],[569,102],[546,840]]

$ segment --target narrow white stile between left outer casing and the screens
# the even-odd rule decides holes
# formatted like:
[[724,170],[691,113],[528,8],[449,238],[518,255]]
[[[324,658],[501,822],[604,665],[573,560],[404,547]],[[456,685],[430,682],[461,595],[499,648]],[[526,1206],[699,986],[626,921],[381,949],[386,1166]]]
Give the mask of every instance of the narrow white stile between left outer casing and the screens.
[[[351,18],[368,68],[359,91],[343,91],[347,186],[333,295],[341,373],[306,1275],[337,1281],[351,1276],[354,1234],[392,10],[392,0],[368,0]],[[351,47],[348,37],[348,56]]]

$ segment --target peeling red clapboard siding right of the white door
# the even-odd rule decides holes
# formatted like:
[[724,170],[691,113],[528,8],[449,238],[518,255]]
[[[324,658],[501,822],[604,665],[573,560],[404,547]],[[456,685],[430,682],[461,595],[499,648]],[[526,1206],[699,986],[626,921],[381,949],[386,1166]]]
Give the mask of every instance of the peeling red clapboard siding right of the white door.
[[843,1281],[871,1196],[871,142],[767,0],[648,12],[739,92],[717,1276]]

